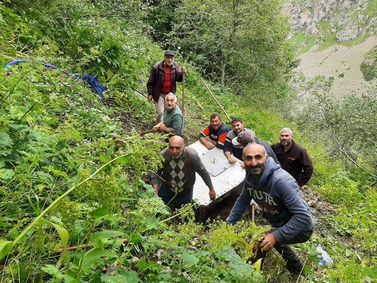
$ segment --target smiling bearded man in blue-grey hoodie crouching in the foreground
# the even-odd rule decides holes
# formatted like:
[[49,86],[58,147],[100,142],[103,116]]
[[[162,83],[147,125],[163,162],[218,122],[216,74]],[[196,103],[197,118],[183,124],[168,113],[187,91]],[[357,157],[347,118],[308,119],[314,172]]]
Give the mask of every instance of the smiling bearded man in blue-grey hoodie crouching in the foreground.
[[294,178],[268,158],[262,145],[248,145],[243,156],[246,168],[244,189],[226,222],[236,223],[254,199],[262,208],[263,217],[273,227],[259,245],[257,259],[263,259],[263,263],[266,252],[274,247],[285,260],[288,271],[300,274],[303,264],[289,244],[306,242],[313,233],[308,204]]

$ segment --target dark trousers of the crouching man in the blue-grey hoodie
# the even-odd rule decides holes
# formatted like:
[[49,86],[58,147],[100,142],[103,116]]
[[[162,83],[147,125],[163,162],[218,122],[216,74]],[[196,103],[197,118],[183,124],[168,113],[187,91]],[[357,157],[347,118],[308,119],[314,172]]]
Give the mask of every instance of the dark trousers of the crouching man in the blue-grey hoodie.
[[[278,230],[279,228],[271,229],[268,233]],[[299,267],[302,265],[299,257],[294,253],[294,251],[289,246],[290,244],[304,243],[310,239],[313,234],[313,230],[303,231],[298,235],[294,236],[292,239],[284,240],[281,242],[276,242],[274,248],[281,254],[282,258],[286,262],[287,267]],[[261,267],[263,266],[264,259],[267,255],[266,251],[258,249],[255,261],[262,259]]]

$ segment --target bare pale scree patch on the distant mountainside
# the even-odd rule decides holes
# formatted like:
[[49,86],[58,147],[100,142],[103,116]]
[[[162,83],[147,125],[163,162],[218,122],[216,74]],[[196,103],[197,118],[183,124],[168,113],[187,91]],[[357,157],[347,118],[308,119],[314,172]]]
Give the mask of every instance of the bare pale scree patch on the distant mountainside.
[[[363,43],[351,47],[334,45],[317,52],[317,46],[313,46],[309,52],[299,57],[301,64],[297,70],[305,75],[306,82],[318,75],[324,75],[327,79],[332,76],[334,82],[330,94],[339,96],[354,92],[361,95],[377,86],[377,79],[366,82],[360,70],[364,55],[375,45],[377,37],[371,36]],[[339,78],[342,74],[344,76]]]

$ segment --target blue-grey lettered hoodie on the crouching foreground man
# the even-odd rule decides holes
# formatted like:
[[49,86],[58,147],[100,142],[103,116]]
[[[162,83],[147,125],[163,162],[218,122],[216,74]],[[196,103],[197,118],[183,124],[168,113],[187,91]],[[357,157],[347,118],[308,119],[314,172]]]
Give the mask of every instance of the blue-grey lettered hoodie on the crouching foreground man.
[[236,223],[254,199],[263,210],[263,217],[277,229],[272,234],[277,242],[292,239],[313,228],[308,204],[294,180],[272,158],[266,161],[260,181],[246,171],[244,189],[237,198],[226,222]]

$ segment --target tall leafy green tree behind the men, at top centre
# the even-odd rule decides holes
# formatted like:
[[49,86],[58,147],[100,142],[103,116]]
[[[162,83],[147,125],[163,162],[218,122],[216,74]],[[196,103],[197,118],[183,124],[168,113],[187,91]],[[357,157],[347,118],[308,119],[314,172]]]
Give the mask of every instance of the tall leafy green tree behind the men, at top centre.
[[280,0],[187,0],[175,9],[170,42],[228,85],[274,82],[294,60]]

